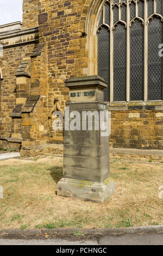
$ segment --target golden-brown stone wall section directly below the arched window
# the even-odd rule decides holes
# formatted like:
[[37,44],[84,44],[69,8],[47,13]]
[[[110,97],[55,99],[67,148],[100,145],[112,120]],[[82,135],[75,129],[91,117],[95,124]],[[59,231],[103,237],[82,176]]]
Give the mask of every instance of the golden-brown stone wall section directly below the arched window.
[[163,111],[112,111],[110,145],[163,149]]

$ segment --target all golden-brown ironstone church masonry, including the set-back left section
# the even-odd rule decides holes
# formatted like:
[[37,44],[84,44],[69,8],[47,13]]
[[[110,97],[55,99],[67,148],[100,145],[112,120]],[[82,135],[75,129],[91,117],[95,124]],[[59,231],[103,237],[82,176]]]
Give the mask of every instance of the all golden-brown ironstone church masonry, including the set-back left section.
[[[39,151],[41,147],[45,148],[45,144],[60,145],[63,141],[63,132],[52,129],[51,113],[57,106],[56,101],[61,111],[64,111],[69,100],[65,80],[88,75],[88,35],[82,32],[90,3],[91,0],[23,1],[23,28],[39,26],[39,43],[4,49],[2,62],[5,72],[0,117],[1,135],[10,136],[12,125],[9,114],[16,105],[15,73],[21,59],[29,57],[34,48],[41,47],[41,53],[36,56],[34,54],[30,61],[30,95],[40,95],[40,99],[33,112],[22,113],[22,155],[34,155],[36,148]],[[161,107],[160,110],[151,107],[124,111],[114,111],[113,108],[111,147],[163,149]]]

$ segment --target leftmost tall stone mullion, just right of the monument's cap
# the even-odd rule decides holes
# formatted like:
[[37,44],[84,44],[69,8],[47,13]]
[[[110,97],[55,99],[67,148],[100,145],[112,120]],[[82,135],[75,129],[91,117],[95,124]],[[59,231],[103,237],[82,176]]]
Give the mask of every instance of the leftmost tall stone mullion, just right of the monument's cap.
[[114,63],[113,63],[113,51],[114,51],[114,46],[113,46],[113,11],[112,11],[112,1],[110,1],[110,102],[113,101],[113,84],[114,84]]

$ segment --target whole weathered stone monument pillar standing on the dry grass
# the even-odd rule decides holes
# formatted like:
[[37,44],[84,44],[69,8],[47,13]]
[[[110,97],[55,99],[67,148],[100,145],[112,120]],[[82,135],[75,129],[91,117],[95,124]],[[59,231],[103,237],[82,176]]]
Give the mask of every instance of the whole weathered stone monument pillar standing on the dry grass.
[[[96,90],[96,88],[99,87],[96,79],[98,78],[98,81],[101,81],[97,76],[86,77],[86,84],[84,80],[83,88],[82,78],[79,80],[76,78],[76,80],[73,80],[76,81],[73,82],[73,88],[75,87],[77,91],[78,87],[83,90],[86,88],[89,89],[92,87],[93,78],[95,79]],[[67,86],[69,84],[71,87],[71,82],[72,80],[70,80],[70,83],[67,81]],[[100,87],[103,93],[105,83],[100,84]],[[88,98],[91,97],[91,95],[87,96]],[[64,132],[64,178],[58,182],[58,195],[77,197],[82,200],[92,200],[93,202],[104,202],[111,196],[115,189],[114,181],[109,179],[109,135],[108,137],[103,137],[100,126],[98,127],[98,130],[89,130],[88,124],[92,124],[93,127],[96,122],[97,124],[101,123],[101,120],[99,119],[100,115],[98,115],[98,120],[96,120],[97,117],[92,118],[92,116],[87,120],[86,115],[82,115],[85,110],[83,106],[85,105],[86,108],[89,109],[90,114],[95,110],[98,114],[99,112],[104,111],[104,109],[101,108],[99,103],[95,103],[95,109],[92,111],[92,103],[89,103],[89,99],[87,102],[81,102],[79,99],[79,102],[79,105],[73,103],[71,111],[76,110],[76,106],[78,106],[77,110],[80,114],[78,123],[81,124],[80,130],[73,131],[70,129]],[[96,98],[94,98],[94,102],[96,102]],[[85,130],[83,130],[82,127],[83,122],[86,124]],[[71,126],[71,118],[69,119],[68,124]]]

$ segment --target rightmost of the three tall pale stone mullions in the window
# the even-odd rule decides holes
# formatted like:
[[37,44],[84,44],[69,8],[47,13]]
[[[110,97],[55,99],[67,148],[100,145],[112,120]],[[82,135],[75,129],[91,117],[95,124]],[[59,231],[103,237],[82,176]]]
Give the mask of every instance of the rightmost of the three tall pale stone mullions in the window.
[[144,101],[148,100],[148,4],[144,2]]

